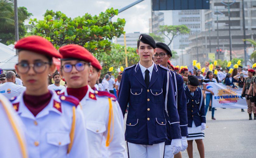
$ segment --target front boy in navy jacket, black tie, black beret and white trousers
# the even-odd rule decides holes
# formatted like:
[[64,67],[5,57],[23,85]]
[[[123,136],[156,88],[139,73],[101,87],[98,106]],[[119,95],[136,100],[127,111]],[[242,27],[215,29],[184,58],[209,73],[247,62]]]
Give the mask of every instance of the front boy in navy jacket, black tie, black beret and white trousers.
[[125,132],[129,156],[163,157],[167,140],[164,111],[170,117],[171,146],[176,154],[181,150],[180,119],[169,69],[153,63],[156,43],[151,36],[141,34],[137,48],[140,61],[123,71],[118,94],[123,115],[129,103]]

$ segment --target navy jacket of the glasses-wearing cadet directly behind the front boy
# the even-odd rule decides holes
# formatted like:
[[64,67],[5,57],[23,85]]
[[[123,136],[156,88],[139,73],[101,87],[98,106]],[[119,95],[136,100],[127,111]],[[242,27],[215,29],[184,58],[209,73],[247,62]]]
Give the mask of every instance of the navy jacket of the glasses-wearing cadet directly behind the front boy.
[[[183,88],[183,78],[181,75],[177,74],[175,71],[170,71],[172,74],[172,82],[174,85],[174,93],[175,93],[175,100],[176,106],[178,109],[178,113],[180,116],[180,130],[181,136],[187,137],[187,102],[186,102],[186,95]],[[171,132],[171,125],[168,120],[166,124],[167,128],[167,138],[168,140],[165,142],[165,145],[171,145],[172,142],[172,132]]]

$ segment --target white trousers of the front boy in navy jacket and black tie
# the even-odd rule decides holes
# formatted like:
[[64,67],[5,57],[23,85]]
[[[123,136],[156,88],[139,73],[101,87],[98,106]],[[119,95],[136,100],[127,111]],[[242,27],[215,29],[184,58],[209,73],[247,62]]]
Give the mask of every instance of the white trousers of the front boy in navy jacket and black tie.
[[127,142],[130,158],[163,158],[165,142],[153,145],[141,145]]

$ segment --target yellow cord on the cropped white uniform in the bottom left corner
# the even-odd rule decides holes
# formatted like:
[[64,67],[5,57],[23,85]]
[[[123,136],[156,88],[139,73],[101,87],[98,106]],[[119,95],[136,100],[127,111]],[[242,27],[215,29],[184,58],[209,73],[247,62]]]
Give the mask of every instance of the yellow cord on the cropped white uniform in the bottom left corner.
[[17,126],[16,126],[16,124],[15,124],[15,122],[14,122],[14,120],[13,120],[11,114],[10,114],[10,112],[6,108],[5,103],[2,100],[0,100],[0,101],[1,101],[1,103],[2,103],[2,105],[4,107],[4,109],[5,109],[5,112],[7,114],[8,119],[10,120],[10,123],[12,125],[12,129],[13,129],[13,131],[14,131],[17,139],[18,139],[18,143],[20,144],[20,150],[21,150],[22,156],[23,156],[23,158],[27,158],[28,156],[27,156],[27,152],[26,152],[26,146],[25,146],[23,140],[21,139],[21,136],[20,136],[20,133],[18,131],[18,128],[17,128]]

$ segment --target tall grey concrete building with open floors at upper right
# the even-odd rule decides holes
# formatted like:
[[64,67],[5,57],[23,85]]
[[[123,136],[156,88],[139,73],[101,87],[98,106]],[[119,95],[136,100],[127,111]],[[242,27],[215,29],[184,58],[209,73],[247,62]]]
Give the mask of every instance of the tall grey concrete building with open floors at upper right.
[[[224,1],[227,3],[228,1]],[[229,2],[233,2],[229,0]],[[218,10],[218,12],[217,12]],[[256,1],[244,0],[245,10],[245,28],[246,38],[254,39],[256,34]],[[218,27],[217,29],[217,16]],[[191,60],[197,59],[204,62],[209,60],[208,53],[216,53],[216,50],[222,49],[222,54],[219,59],[229,60],[229,16],[228,7],[222,3],[222,0],[211,0],[210,9],[204,12],[204,25],[202,32],[197,35],[190,35],[190,49],[187,53],[190,54]],[[230,5],[230,29],[232,41],[232,58],[244,57],[244,34],[243,34],[243,12],[242,0],[236,0]],[[219,30],[219,36],[218,31]],[[219,38],[219,45],[218,45]],[[247,42],[247,47],[251,44]],[[248,52],[247,52],[248,53]],[[250,55],[250,52],[248,53]],[[215,54],[215,59],[218,55]]]

